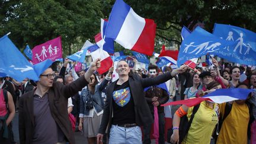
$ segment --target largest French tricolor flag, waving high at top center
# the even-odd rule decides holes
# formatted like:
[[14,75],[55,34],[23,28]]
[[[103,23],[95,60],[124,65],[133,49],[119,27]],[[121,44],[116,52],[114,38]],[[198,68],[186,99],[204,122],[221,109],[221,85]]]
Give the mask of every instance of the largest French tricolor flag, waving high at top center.
[[116,0],[105,37],[114,39],[125,49],[152,56],[155,31],[156,24],[153,20],[140,17],[123,0]]

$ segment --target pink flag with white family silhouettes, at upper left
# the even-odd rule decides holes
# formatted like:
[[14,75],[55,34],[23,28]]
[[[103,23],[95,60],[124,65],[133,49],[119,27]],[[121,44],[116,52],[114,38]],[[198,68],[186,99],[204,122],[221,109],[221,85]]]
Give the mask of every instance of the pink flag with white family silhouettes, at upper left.
[[43,44],[35,46],[32,50],[33,63],[43,62],[46,59],[50,59],[53,62],[56,59],[62,58],[62,44],[60,37],[53,40],[46,41]]

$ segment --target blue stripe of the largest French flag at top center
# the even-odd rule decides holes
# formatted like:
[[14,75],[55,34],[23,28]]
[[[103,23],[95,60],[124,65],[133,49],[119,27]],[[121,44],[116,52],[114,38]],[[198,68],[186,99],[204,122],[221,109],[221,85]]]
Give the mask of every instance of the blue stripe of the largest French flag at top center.
[[130,6],[123,2],[123,0],[115,2],[105,30],[105,37],[116,39],[129,11]]

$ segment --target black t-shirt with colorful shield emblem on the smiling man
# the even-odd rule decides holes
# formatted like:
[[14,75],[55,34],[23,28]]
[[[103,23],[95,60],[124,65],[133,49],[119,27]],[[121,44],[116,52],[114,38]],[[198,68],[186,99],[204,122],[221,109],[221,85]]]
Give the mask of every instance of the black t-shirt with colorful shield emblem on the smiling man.
[[130,92],[129,81],[115,85],[113,91],[112,124],[131,124],[135,122],[135,105]]

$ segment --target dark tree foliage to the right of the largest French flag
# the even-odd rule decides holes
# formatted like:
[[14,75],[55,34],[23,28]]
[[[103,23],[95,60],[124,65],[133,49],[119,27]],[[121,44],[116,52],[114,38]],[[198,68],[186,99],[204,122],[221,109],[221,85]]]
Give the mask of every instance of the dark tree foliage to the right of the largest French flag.
[[[141,17],[155,20],[156,43],[160,40],[180,44],[180,31],[183,25],[193,30],[200,24],[207,31],[212,32],[215,23],[222,23],[256,31],[256,9],[254,8],[256,1],[252,0],[129,0],[125,2]],[[113,4],[114,0],[104,1],[105,17],[108,17]]]

